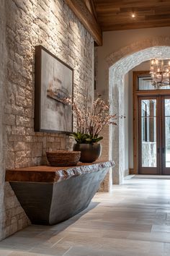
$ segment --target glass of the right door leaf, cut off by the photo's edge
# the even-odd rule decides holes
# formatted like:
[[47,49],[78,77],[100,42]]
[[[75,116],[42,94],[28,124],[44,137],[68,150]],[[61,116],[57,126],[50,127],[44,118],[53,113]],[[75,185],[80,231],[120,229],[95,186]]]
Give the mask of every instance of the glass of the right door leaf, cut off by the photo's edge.
[[170,100],[165,100],[165,152],[166,167],[170,167]]

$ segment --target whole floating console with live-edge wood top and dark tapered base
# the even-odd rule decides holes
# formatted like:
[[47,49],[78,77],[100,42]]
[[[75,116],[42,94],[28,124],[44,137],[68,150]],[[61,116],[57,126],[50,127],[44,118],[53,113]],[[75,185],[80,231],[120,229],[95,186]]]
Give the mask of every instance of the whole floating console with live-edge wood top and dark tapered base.
[[14,168],[6,170],[6,182],[32,223],[54,225],[84,210],[114,166],[113,161],[107,161]]

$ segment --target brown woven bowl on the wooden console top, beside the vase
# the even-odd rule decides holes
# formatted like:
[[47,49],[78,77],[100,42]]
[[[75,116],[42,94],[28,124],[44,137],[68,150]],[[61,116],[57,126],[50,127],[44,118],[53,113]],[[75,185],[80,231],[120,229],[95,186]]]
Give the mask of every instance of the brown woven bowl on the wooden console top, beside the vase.
[[46,152],[50,166],[76,166],[79,162],[80,151],[56,150]]

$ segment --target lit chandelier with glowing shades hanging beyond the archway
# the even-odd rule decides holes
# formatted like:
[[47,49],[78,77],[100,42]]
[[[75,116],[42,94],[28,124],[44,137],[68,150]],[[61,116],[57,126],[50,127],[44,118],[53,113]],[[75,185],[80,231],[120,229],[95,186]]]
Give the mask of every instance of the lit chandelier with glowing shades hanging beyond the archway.
[[151,84],[156,88],[170,85],[170,60],[151,59]]

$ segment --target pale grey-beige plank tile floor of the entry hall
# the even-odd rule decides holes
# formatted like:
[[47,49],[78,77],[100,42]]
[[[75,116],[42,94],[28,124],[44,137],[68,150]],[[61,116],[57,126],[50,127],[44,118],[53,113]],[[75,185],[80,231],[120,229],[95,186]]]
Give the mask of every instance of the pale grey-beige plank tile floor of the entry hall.
[[29,226],[0,242],[0,256],[170,255],[170,180],[127,179],[55,226]]

